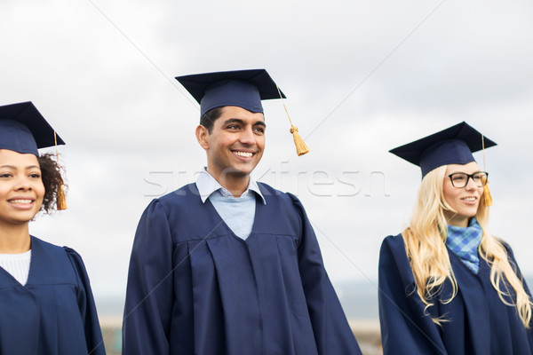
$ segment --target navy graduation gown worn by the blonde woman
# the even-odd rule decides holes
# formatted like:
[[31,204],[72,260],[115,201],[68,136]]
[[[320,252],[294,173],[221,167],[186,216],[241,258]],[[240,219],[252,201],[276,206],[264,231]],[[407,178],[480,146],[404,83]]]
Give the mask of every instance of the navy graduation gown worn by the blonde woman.
[[[511,248],[505,247],[521,277]],[[505,305],[497,296],[490,283],[489,264],[480,258],[480,270],[475,274],[453,252],[448,250],[448,254],[457,280],[457,296],[449,304],[439,301],[451,295],[447,280],[434,297],[428,316],[415,290],[402,235],[383,241],[379,256],[379,319],[384,354],[533,354],[533,333],[522,326],[515,307]],[[525,282],[524,287],[529,293]],[[506,300],[512,301],[508,297]],[[441,316],[449,321],[439,327],[431,317]]]

